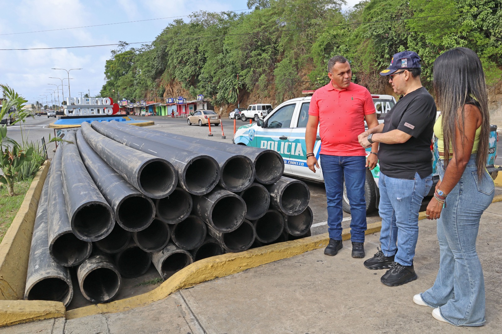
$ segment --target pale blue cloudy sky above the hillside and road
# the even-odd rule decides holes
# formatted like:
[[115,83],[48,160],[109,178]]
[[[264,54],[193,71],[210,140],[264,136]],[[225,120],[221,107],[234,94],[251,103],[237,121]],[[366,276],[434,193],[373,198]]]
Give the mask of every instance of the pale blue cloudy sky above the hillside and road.
[[[359,1],[347,0],[344,7]],[[246,0],[3,0],[2,10],[0,49],[23,49],[150,42],[180,16],[188,20],[196,11],[247,11],[247,7]],[[65,29],[159,18],[169,19]],[[54,29],[62,30],[19,34]],[[82,68],[70,71],[71,96],[88,92],[94,96],[104,84],[105,61],[113,49],[116,47],[0,50],[0,83],[14,88],[29,103],[39,100],[46,104],[48,99],[50,105],[58,90],[60,101],[63,94],[68,97],[67,72],[52,68]],[[61,80],[50,77],[63,79],[64,92]]]

